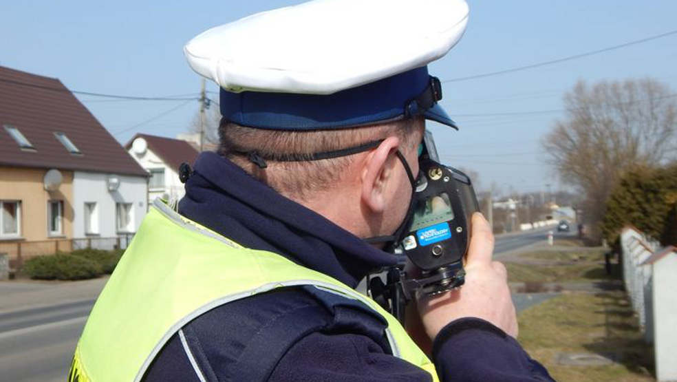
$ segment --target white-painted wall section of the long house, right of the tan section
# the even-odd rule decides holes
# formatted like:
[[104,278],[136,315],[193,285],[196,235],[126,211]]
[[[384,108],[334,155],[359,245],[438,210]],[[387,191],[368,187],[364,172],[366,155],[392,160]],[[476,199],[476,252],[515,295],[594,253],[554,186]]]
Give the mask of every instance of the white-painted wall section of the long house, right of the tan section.
[[[120,180],[116,191],[109,191],[108,179]],[[123,235],[116,226],[116,203],[132,204],[132,232],[136,232],[147,211],[147,178],[142,176],[118,176],[108,173],[75,171],[73,178],[73,204],[76,219],[74,237],[115,237]],[[96,202],[98,233],[85,233],[85,203]]]

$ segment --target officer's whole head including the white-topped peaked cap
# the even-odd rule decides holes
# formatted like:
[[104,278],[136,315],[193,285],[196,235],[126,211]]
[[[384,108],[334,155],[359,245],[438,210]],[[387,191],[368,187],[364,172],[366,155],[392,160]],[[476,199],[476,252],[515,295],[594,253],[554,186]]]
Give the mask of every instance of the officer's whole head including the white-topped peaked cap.
[[422,121],[455,128],[427,64],[468,13],[465,0],[316,0],[212,28],[184,52],[221,88],[223,155],[358,236],[390,235]]

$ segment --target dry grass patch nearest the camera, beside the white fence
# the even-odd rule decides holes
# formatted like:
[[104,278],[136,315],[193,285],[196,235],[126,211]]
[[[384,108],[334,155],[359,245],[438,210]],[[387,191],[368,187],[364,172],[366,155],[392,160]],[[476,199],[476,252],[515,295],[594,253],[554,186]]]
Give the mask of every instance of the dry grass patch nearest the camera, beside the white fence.
[[[568,293],[519,314],[519,342],[557,381],[654,381],[653,348],[621,291]],[[609,365],[560,365],[561,353],[612,354]]]

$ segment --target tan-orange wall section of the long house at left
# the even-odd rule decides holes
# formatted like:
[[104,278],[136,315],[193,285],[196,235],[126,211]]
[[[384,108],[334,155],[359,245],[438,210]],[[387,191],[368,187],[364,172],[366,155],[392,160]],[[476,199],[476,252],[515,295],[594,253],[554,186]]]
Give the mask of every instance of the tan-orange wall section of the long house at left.
[[[43,242],[73,237],[73,171],[61,171],[63,182],[56,191],[45,191],[43,179],[47,169],[28,169],[21,167],[0,166],[0,200],[21,201],[20,237],[16,239],[0,238],[0,253],[9,253],[10,258],[17,255],[17,242]],[[47,202],[63,201],[63,217],[61,219],[62,235],[50,236],[47,228]],[[24,246],[24,255],[32,252],[51,250],[50,242],[35,243]],[[59,246],[60,251],[69,248]]]

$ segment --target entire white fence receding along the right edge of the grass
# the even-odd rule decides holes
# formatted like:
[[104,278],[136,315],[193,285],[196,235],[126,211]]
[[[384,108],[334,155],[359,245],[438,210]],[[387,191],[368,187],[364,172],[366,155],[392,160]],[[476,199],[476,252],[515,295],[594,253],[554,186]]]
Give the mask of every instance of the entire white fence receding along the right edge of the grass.
[[654,343],[656,378],[677,381],[677,249],[659,248],[633,228],[623,229],[623,282],[647,342]]

